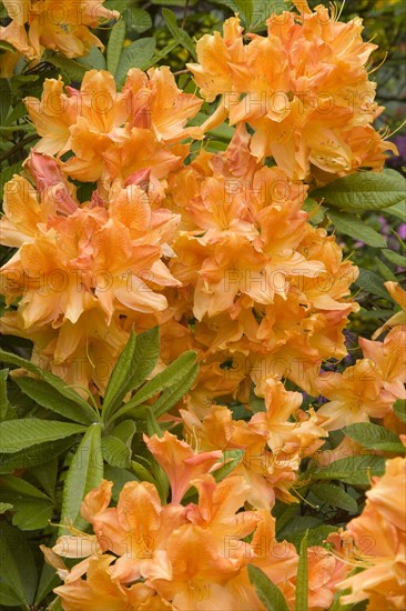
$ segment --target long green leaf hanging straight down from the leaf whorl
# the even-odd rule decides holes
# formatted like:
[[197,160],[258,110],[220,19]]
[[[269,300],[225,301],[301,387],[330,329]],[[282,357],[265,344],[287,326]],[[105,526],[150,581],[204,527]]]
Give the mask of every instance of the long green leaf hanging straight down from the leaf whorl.
[[[64,482],[61,523],[72,520],[83,529],[87,522],[80,517],[80,505],[90,490],[97,488],[103,479],[103,460],[101,451],[101,427],[92,424],[83,437],[72,458]],[[61,528],[61,534],[64,529]]]

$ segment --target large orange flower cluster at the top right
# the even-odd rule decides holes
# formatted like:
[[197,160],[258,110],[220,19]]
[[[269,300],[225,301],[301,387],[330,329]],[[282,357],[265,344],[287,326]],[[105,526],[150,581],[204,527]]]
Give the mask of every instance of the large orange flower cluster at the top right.
[[338,21],[323,4],[293,2],[301,17],[284,11],[267,20],[267,37],[246,33],[238,18],[197,42],[190,63],[202,96],[221,96],[207,127],[248,123],[253,156],[273,157],[293,179],[329,182],[358,168],[383,168],[395,150],[374,130],[383,111],[376,83],[365,67],[375,44],[362,39],[362,20]]

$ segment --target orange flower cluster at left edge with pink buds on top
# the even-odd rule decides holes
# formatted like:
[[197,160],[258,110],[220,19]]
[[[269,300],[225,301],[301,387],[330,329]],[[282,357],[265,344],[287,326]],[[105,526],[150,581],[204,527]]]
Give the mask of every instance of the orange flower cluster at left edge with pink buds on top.
[[[3,292],[21,298],[1,328],[33,338],[38,358],[67,381],[102,391],[129,337],[125,317],[156,324],[162,289],[180,286],[165,264],[180,219],[150,200],[140,174],[114,183],[108,207],[95,192],[79,206],[53,158],[33,152],[28,166],[37,189],[16,176],[0,221],[3,243],[20,247],[1,270]],[[82,367],[63,367],[72,361]]]

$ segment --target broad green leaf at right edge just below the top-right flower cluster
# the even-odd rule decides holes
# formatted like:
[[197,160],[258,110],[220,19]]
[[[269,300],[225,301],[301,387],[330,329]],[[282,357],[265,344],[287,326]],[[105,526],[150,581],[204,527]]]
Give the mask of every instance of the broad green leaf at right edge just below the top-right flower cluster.
[[312,198],[341,210],[382,210],[405,201],[406,181],[396,170],[357,172],[312,191]]

